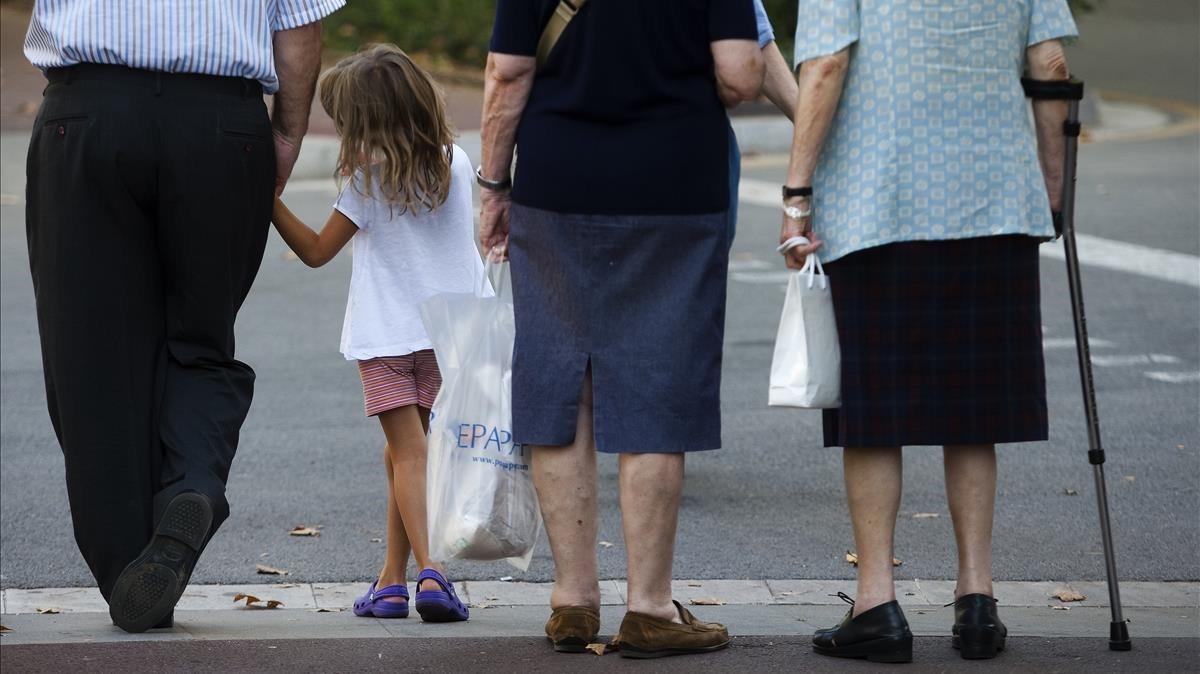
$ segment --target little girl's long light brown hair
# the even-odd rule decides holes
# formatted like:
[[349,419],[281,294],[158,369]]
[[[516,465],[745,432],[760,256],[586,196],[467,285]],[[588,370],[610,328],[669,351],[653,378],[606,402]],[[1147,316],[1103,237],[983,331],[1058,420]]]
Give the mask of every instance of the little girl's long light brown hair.
[[445,203],[454,132],[442,91],[408,54],[395,44],[366,47],[325,71],[318,90],[342,140],[338,175],[361,173],[366,197],[374,197],[378,177],[378,197],[401,212]]

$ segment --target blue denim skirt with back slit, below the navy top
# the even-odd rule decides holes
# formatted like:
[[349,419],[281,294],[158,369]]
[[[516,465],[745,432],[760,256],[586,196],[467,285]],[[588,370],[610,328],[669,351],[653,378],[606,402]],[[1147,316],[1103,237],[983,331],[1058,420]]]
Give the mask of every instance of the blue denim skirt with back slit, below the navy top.
[[726,213],[512,204],[509,224],[515,440],[571,444],[590,368],[599,451],[720,447]]

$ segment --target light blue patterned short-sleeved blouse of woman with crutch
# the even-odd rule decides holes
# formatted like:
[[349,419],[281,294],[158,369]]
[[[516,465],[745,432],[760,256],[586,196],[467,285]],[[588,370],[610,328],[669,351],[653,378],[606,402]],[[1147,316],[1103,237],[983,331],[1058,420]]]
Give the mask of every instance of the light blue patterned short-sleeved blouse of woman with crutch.
[[1025,49],[1067,0],[800,0],[796,64],[853,46],[814,176],[821,259],[896,241],[1054,236]]

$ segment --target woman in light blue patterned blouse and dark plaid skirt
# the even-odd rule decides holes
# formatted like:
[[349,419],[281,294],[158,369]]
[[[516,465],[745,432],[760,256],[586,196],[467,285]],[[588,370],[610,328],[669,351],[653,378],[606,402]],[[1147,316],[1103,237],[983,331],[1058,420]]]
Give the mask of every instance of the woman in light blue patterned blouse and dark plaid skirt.
[[[954,644],[1004,645],[991,583],[997,443],[1046,439],[1038,243],[1054,236],[1067,0],[802,0],[800,103],[781,240],[812,233],[829,263],[842,351],[840,409],[858,598],[818,652],[908,661],[893,529],[904,445],[942,445],[958,541]],[[1040,168],[1039,168],[1040,158]],[[809,194],[811,191],[811,195]],[[811,211],[811,212],[810,212]]]

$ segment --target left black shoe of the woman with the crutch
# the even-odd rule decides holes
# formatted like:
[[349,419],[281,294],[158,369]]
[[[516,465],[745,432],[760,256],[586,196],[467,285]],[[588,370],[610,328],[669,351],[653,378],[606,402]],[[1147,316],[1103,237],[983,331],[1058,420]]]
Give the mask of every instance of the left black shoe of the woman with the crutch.
[[854,600],[838,592],[851,606],[841,624],[812,634],[812,650],[834,657],[870,662],[912,662],[912,632],[900,603],[889,601],[854,616]]

